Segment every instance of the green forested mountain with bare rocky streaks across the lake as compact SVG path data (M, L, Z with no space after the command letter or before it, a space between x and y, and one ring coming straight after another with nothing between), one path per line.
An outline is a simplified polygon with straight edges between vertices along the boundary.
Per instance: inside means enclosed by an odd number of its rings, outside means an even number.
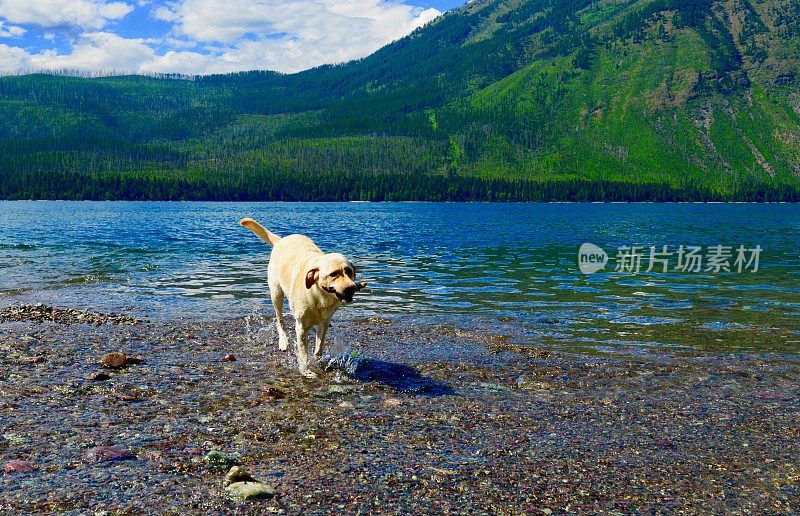
M284 75L0 78L0 198L800 200L800 2L473 1Z

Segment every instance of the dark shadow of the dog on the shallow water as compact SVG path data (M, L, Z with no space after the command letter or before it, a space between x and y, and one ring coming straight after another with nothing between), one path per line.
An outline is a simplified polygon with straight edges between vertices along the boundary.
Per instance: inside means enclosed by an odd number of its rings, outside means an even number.
M338 369L358 382L377 383L407 394L431 397L455 394L451 386L426 378L418 369L406 364L341 355L329 360L326 369Z

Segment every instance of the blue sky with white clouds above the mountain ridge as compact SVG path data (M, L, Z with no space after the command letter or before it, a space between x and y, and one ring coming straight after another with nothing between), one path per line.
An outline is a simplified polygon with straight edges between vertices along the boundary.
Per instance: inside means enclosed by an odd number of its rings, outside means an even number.
M0 73L291 73L369 55L463 3L0 0Z

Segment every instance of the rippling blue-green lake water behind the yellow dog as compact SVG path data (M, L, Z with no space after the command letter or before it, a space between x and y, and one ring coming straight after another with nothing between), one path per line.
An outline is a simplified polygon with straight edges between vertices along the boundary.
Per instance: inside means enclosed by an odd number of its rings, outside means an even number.
M271 315L270 248L244 216L352 257L370 286L337 318L603 352L800 350L800 207L782 204L0 202L0 305ZM581 273L583 243L604 270ZM699 272L676 270L681 245L701 248ZM718 245L731 272L707 270ZM638 273L614 270L622 246L642 247ZM646 272L650 246L672 253L667 273ZM760 246L758 270L737 272L740 246L746 261Z

